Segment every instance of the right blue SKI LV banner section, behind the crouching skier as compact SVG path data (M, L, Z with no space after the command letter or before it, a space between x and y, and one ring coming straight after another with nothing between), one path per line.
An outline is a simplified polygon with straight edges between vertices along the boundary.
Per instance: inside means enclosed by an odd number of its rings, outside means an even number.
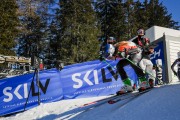
M64 98L84 98L114 94L123 82L116 70L119 60L90 61L69 66L61 72ZM137 79L134 70L125 66L131 79Z

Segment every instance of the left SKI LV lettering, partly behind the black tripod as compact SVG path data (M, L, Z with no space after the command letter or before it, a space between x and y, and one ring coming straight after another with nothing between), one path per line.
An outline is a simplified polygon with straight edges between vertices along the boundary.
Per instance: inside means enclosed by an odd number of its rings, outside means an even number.
M43 84L41 83L41 81L39 81L39 88L41 89L41 91L46 94L48 85L49 85L50 79L47 79L45 82L45 85L43 86ZM35 88L36 88L36 84L34 84L34 82L32 82L31 85L31 93L32 93L32 97L33 96L38 96L38 92L36 92ZM23 93L22 93L22 89L23 89ZM20 93L21 90L21 93ZM13 89L12 87L5 87L3 89L3 94L6 96L3 101L4 102L10 102L13 100L14 97L17 97L18 99L23 99L23 98L27 98L28 97L28 84L20 84L18 85L15 89ZM41 93L40 93L41 94Z

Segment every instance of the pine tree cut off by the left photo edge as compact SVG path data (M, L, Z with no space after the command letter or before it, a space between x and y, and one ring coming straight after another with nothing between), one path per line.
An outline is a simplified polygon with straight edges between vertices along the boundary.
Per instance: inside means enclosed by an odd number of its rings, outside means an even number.
M16 0L0 0L0 54L14 55L19 20Z

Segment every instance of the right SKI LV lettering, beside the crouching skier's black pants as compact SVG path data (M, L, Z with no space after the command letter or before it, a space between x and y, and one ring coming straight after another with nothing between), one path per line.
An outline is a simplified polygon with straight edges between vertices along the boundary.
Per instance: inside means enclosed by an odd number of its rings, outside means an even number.
M111 75L113 76L113 78L117 81L118 80L118 72L117 71L114 72L112 67L107 67L107 69L108 69L108 72L110 72ZM94 80L89 79L89 75L91 74L91 72L93 72ZM101 69L101 76L102 76L103 83L112 82L112 77L111 78L106 78L106 74L107 73L105 73L105 69L102 68ZM94 84L99 84L99 78L98 78L97 70L87 71L84 76L82 76L81 73L75 73L75 74L72 75L72 80L75 82L75 84L73 84L73 88L76 88L76 89L81 88L84 83L87 83L90 86L94 85Z

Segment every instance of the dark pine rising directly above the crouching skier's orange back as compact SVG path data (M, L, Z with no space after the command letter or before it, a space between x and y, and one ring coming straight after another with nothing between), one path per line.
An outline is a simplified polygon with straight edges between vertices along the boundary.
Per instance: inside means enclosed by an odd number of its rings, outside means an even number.
M125 39L125 10L122 0L97 1L96 11L104 36L113 36L118 41Z

